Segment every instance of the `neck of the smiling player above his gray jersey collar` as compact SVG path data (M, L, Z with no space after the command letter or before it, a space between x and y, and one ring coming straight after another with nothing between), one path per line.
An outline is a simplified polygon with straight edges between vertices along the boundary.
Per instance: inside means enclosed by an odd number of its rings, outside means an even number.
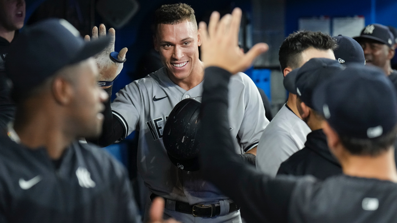
M168 77L170 77L173 83L184 90L190 90L200 84L204 79L204 63L198 60L198 62L194 65L189 77L185 79L175 79L172 77L172 75L168 75Z

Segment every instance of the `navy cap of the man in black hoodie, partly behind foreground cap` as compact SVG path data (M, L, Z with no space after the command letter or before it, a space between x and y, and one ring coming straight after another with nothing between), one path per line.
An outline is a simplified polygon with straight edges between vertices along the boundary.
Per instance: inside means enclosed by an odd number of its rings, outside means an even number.
M288 80L288 82L294 81L294 85L288 86L290 92L297 94L304 104L310 108L313 108L312 94L314 88L342 69L343 66L336 60L327 58L312 58L301 68L294 69L288 73L285 78L292 74Z

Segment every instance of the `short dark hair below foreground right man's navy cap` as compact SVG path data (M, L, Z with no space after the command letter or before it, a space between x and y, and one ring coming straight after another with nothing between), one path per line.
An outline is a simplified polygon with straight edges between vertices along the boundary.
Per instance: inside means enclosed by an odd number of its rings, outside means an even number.
M394 145L397 138L397 126L389 133L377 138L352 138L339 135L342 144L353 155L378 156Z

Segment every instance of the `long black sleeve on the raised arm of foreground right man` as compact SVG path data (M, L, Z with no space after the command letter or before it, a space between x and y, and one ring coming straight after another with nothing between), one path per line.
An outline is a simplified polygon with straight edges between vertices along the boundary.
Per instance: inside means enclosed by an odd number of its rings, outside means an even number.
M205 70L200 129L204 177L241 205L247 221L286 222L295 182L271 180L244 164L234 152L227 115L230 76L217 67Z

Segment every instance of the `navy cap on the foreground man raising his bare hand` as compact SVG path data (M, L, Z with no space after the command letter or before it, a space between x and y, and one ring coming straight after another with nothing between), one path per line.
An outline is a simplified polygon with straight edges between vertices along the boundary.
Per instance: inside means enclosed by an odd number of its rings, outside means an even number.
M339 135L377 138L397 124L396 90L378 67L349 66L320 84L314 109Z

